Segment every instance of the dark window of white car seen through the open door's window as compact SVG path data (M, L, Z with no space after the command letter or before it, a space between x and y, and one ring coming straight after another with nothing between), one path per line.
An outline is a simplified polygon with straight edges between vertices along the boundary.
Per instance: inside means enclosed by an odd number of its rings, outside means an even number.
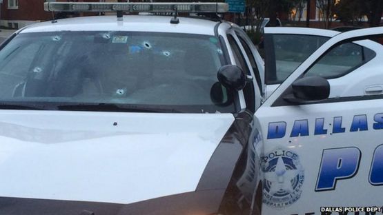
M337 45L311 67L306 76L337 78L375 57L375 52L355 43Z

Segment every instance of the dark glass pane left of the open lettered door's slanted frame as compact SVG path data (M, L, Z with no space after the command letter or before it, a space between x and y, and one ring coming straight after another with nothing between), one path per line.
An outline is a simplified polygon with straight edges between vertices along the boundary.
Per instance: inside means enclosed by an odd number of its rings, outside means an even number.
M267 35L266 84L282 83L328 39L328 37L300 34Z

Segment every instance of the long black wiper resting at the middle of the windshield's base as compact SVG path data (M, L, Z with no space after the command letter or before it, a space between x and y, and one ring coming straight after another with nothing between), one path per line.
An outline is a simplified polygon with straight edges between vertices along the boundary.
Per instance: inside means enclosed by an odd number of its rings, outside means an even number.
M110 111L110 112L144 112L144 113L180 113L179 110L142 105L126 105L112 103L79 103L73 105L58 105L58 110L79 111Z

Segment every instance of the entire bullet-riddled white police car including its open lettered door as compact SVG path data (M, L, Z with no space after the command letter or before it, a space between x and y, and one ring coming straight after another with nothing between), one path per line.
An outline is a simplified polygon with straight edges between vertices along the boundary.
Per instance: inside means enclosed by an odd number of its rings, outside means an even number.
M46 3L119 18L39 23L1 45L0 214L320 214L321 206L380 205L382 95L330 94L349 76L353 85L382 85L362 73L379 53L333 79L307 71L383 29L330 39L261 105L263 61L236 25L121 17L226 7ZM375 200L357 196L365 192Z

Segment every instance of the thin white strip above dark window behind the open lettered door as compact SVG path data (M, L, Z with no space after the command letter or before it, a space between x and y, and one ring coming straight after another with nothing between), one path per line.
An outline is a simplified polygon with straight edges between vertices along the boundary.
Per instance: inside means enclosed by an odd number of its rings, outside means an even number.
M322 37L334 37L340 34L335 30L326 30L320 28L302 28L302 27L265 27L265 34L306 34L317 35Z

